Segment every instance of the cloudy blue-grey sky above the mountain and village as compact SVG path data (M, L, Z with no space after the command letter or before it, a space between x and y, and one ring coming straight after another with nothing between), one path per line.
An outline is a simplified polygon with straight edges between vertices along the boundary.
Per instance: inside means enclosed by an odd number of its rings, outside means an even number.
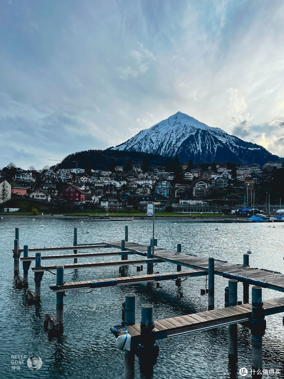
M284 157L281 0L1 0L0 167L178 111Z

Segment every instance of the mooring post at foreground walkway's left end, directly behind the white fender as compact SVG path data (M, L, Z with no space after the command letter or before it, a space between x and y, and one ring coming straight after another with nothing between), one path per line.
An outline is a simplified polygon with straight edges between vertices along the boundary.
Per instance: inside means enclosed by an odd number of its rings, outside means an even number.
M125 329L135 324L136 294L125 294ZM124 379L135 378L135 353L133 346L124 354Z

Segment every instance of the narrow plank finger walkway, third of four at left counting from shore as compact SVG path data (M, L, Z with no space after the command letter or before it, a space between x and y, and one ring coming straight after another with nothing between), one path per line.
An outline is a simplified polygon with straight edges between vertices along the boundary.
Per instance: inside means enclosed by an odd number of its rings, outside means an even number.
M77 257L78 254L74 254ZM158 263L161 262L158 258L150 259L129 259L120 261L106 261L106 262L86 262L86 263L66 263L64 264L64 269L76 269L76 268L92 268L92 267L106 267L106 266L131 266L131 265L144 265L145 263ZM56 270L56 265L45 265L45 266L31 266L33 271L47 271Z

